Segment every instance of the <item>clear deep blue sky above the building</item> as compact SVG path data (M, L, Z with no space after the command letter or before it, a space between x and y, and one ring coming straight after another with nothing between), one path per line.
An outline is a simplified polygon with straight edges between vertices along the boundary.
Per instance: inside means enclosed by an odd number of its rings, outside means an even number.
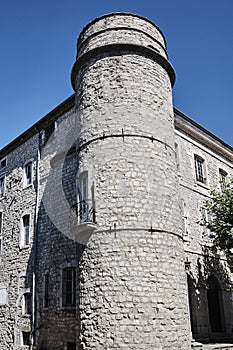
M120 11L160 27L175 107L233 146L233 0L0 0L0 148L73 93L80 31Z

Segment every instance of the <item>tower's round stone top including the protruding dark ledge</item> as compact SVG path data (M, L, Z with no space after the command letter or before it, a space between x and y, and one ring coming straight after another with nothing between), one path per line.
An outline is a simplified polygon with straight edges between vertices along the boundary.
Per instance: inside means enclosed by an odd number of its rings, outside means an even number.
M146 18L130 13L112 13L90 22L79 36L76 62L71 73L74 90L78 71L89 60L128 53L156 60L168 72L173 86L175 72L168 61L161 30Z

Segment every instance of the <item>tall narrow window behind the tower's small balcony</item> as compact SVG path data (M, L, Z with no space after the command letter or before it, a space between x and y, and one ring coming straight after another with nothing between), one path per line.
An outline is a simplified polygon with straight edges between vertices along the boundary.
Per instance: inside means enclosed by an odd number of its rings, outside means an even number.
M88 175L85 171L79 177L79 218L88 221Z

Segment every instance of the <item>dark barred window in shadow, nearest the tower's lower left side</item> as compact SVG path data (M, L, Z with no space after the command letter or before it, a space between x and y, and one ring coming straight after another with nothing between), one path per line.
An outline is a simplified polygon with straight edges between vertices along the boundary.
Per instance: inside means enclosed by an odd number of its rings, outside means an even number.
M62 306L75 305L76 276L74 267L62 271Z

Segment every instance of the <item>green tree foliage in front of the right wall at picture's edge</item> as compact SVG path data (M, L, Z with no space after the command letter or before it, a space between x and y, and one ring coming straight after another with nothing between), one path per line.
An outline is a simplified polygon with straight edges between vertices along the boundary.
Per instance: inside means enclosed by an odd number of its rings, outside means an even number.
M211 231L213 249L229 256L233 253L233 179L222 187L221 192L211 191L211 198L205 202L208 221L203 219L202 224Z

